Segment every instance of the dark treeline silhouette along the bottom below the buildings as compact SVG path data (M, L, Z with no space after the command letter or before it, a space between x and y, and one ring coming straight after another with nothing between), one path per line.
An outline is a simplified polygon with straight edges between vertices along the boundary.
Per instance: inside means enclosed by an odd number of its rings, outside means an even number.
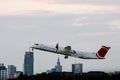
M120 80L120 74L109 75L104 72L88 72L82 74L74 74L72 72L59 72L59 73L41 73L36 75L23 75L16 79L8 80Z

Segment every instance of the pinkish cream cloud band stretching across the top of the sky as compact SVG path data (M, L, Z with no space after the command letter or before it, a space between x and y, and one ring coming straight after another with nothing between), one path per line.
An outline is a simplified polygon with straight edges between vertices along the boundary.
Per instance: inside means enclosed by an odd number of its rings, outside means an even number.
M47 3L48 2L48 3ZM54 12L56 14L108 14L120 13L119 5L96 5L96 4L60 4L49 1L24 1L7 0L0 1L0 15L36 15L39 11Z

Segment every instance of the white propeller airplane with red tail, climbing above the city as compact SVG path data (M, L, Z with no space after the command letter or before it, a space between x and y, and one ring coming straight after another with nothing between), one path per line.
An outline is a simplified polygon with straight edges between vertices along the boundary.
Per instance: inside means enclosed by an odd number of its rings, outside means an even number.
M59 44L57 43L56 46L48 46L44 44L34 44L30 46L32 50L42 50L57 54L65 55L65 59L68 58L68 56L76 57L76 58L82 58L82 59L105 59L105 55L107 54L108 50L111 47L102 46L97 52L83 52L78 50L71 49L71 46L66 47L59 47Z

